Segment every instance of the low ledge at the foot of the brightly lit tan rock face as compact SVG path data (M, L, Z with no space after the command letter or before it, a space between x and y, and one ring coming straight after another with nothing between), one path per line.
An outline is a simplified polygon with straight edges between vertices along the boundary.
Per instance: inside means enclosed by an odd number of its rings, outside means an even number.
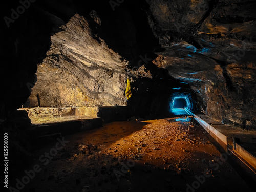
M69 135L102 126L102 123L127 120L125 106L20 108L32 124L26 127L33 142L51 140L56 135ZM32 143L33 143L32 142Z

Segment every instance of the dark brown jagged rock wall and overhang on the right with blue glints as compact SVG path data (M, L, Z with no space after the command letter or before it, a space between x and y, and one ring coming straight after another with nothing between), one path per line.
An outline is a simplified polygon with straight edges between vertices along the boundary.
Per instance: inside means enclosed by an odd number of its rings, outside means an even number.
M162 48L154 63L188 83L205 113L256 127L256 2L147 1Z

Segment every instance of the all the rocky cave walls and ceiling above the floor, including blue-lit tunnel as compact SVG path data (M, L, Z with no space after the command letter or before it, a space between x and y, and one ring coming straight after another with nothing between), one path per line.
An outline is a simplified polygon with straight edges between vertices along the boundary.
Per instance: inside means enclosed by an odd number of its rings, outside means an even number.
M248 0L5 2L0 123L20 158L13 172L33 161L33 142L56 134L36 126L66 126L71 116L104 124L197 114L230 133L255 131L255 8Z

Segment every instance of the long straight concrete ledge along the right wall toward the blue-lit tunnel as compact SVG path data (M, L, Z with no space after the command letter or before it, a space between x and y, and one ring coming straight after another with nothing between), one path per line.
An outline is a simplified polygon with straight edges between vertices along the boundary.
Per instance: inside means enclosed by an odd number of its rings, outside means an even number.
M249 175L251 175L255 180L256 150L254 147L255 143L252 143L251 141L254 142L256 131L248 131L239 127L227 126L218 121L212 120L209 116L203 114L193 114L193 116L204 130L207 131L207 133L209 133L209 135L214 138L226 152L231 151L235 156L237 156L240 160L239 164L244 164L244 167L247 167L245 169L249 172ZM239 138L240 141L247 141L248 143L235 143L233 142L233 138ZM245 149L246 145L252 146L251 151Z

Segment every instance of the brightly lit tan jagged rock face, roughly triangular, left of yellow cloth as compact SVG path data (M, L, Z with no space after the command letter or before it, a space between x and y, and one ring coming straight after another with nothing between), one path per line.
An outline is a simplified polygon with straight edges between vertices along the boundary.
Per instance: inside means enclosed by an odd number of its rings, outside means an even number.
M51 37L26 103L34 106L125 106L126 61L76 14Z

